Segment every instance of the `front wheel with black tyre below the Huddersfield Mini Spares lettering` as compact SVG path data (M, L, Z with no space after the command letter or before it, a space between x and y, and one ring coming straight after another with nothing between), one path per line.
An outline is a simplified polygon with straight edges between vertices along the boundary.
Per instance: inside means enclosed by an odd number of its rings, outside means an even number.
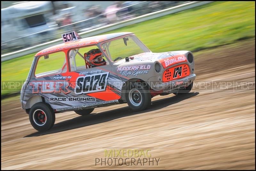
M142 111L151 104L151 94L145 82L132 82L125 92L125 99L133 111Z

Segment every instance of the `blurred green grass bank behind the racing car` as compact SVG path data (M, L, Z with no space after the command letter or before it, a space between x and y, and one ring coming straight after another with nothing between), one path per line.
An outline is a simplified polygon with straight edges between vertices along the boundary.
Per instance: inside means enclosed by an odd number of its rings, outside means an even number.
M214 2L107 33L115 32L135 33L153 52L195 52L255 37L255 2ZM14 92L3 91L3 81L26 80L34 55L1 63L1 95ZM46 67L50 70L57 62Z

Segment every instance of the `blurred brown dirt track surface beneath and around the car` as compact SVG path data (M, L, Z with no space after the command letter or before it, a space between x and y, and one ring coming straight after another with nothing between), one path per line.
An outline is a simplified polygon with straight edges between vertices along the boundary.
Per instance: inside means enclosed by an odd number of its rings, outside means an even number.
M59 113L44 133L30 125L19 100L2 103L1 168L255 169L255 40L200 52L195 62L187 95L156 96L142 112L121 104L85 117ZM160 160L95 166L111 148L150 148Z

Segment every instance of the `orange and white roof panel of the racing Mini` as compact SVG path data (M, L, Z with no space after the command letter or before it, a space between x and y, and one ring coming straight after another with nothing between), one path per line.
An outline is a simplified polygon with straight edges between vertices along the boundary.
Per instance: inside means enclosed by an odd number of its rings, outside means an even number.
M42 51L39 51L36 53L36 56L41 56L44 54L52 53L52 52L57 52L57 51L62 51L65 49L71 49L71 48L79 48L83 47L86 45L92 45L96 43L100 43L118 36L123 36L123 35L129 35L133 34L131 32L121 32L121 33L111 33L111 34L106 34L106 35L97 35L97 36L92 36L92 37L86 37L83 39L79 39L76 41L71 41L71 42L66 42L66 43L61 43L55 46L51 46L49 48L46 48Z

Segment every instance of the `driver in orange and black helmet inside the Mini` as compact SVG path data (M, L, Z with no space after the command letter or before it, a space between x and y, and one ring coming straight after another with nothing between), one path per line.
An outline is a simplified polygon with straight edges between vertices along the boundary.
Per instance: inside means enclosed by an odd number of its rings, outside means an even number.
M90 67L106 65L107 62L102 57L103 55L100 49L92 49L84 53L84 58Z

